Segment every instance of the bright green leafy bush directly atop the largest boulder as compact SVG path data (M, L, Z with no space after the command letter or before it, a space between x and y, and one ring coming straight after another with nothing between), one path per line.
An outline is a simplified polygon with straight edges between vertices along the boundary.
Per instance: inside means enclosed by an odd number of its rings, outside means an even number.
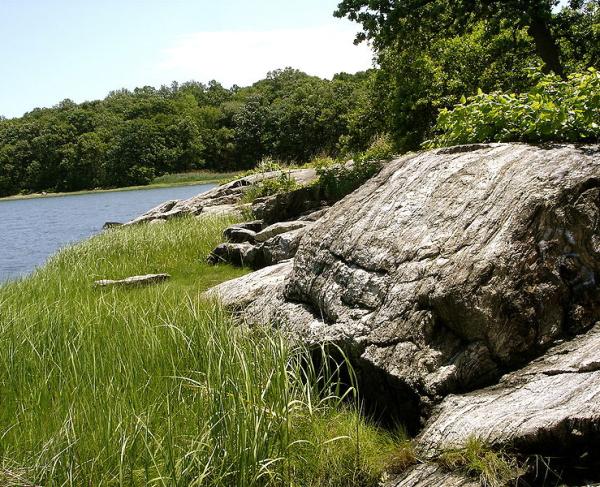
M562 80L539 78L527 93L485 94L442 110L426 148L476 142L594 142L600 140L600 73L590 68Z

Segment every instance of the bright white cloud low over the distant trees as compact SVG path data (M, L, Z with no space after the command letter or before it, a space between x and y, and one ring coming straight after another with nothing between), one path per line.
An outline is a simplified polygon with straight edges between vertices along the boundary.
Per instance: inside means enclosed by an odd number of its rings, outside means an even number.
M371 67L372 51L353 44L355 32L341 24L271 31L197 32L163 50L158 66L170 79L216 79L251 84L274 69L291 66L331 78Z

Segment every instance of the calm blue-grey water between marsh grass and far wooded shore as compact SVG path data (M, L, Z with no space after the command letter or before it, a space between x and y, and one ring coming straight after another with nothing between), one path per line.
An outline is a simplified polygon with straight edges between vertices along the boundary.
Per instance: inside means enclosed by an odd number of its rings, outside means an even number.
M170 199L213 184L0 201L0 282L31 272L61 247L88 238L107 221L125 222Z

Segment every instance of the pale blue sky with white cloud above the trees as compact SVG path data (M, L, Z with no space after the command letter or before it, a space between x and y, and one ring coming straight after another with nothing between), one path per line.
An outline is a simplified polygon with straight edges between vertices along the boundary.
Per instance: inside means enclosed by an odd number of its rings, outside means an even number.
M65 98L212 79L245 86L291 66L331 77L372 64L339 0L0 0L0 115Z

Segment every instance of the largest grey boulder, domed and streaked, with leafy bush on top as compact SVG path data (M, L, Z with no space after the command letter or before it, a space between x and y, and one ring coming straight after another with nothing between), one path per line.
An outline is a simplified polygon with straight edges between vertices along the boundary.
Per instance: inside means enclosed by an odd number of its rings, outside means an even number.
M416 424L600 318L599 204L595 146L408 155L307 231L268 299L240 296L244 318L341 345L363 396Z

